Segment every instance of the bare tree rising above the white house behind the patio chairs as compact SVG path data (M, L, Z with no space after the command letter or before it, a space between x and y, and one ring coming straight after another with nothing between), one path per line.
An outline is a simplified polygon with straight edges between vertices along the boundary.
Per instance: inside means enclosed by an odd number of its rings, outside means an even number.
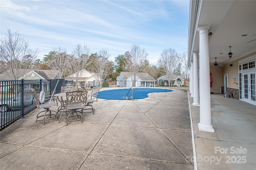
M82 76L83 69L87 68L88 64L88 56L90 53L90 49L87 45L77 44L72 55L70 56L68 66L70 74L73 74L75 77L74 79L78 81L78 79Z

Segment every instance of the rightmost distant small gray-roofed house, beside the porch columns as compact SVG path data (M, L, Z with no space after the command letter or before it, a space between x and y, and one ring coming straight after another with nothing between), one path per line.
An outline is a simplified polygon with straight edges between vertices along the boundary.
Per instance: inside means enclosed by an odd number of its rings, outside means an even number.
M168 78L167 76L161 76L157 79L157 84L160 86L169 86ZM180 76L177 76L175 74L172 74L172 80L171 80L171 86L183 86L184 85L184 79Z

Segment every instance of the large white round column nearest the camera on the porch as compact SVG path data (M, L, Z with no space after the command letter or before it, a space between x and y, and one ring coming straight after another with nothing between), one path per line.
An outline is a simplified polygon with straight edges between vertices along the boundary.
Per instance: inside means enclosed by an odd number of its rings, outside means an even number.
M214 132L211 122L210 59L208 31L210 25L198 26L199 31L199 87L200 87L200 131Z

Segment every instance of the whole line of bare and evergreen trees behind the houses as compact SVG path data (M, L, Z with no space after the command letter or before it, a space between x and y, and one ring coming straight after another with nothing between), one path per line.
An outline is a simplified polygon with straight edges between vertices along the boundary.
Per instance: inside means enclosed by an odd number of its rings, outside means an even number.
M156 64L150 64L148 53L139 44L132 44L130 50L118 55L114 61L107 49L91 53L86 44L76 44L74 50L69 52L65 48L54 47L45 57L38 59L38 49L32 51L26 41L18 32L12 33L7 29L6 36L0 44L0 73L8 72L11 80L17 80L20 69L57 70L58 78L75 75L78 80L82 74L80 70L96 73L102 80L116 80L120 72L131 72L132 82L136 82L136 74L146 72L154 79L166 75L169 82L173 74L184 79L189 78L186 67L187 53L178 54L175 49L163 49ZM170 84L169 84L170 85Z

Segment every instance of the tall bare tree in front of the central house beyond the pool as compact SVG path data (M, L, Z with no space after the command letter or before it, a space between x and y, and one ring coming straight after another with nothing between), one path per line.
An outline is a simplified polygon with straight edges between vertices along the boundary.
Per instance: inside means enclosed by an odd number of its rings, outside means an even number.
M130 51L125 53L126 70L132 75L132 86L136 86L137 73L142 72L143 64L147 60L148 53L139 44L132 44Z

